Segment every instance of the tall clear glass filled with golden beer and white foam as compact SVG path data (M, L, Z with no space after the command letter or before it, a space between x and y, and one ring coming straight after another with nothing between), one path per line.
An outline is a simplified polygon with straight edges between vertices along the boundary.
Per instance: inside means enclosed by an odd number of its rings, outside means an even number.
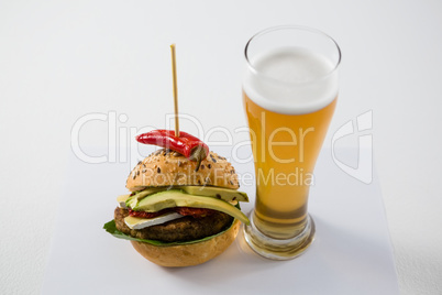
M265 258L294 259L314 239L309 188L336 106L341 51L316 29L276 26L247 42L245 61L256 201L244 237Z

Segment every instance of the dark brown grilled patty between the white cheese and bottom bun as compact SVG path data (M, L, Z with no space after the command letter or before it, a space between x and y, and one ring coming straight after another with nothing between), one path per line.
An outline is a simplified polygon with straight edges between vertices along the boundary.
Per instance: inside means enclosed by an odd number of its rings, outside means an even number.
M144 240L157 240L163 242L191 241L205 237L217 234L228 229L233 217L224 212L216 211L212 215L194 218L186 216L162 225L147 227L144 229L130 229L124 223L124 218L129 216L129 210L120 207L115 208L114 220L117 229L134 238Z

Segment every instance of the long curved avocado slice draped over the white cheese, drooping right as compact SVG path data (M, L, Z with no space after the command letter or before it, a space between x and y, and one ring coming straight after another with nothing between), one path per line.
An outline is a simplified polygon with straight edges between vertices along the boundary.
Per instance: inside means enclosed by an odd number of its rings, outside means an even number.
M240 221L250 225L248 218L241 210L224 200L189 195L178 189L170 189L151 195L148 198L144 198L139 201L136 207L133 209L143 210L146 212L156 212L173 207L213 209L233 216Z

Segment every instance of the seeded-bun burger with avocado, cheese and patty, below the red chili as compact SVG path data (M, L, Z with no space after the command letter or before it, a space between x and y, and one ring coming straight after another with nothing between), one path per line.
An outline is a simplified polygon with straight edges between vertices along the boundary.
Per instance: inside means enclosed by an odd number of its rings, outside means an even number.
M199 163L158 150L130 173L128 195L119 196L114 219L104 229L130 240L145 259L162 266L190 266L221 254L241 222L239 178L225 157L210 152Z

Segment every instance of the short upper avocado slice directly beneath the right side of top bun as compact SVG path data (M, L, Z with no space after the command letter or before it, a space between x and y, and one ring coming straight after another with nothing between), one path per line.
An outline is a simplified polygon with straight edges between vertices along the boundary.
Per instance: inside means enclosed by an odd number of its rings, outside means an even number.
M237 200L248 201L247 194L234 189L216 186L181 186L179 187L187 194L205 197L213 197L225 201Z

